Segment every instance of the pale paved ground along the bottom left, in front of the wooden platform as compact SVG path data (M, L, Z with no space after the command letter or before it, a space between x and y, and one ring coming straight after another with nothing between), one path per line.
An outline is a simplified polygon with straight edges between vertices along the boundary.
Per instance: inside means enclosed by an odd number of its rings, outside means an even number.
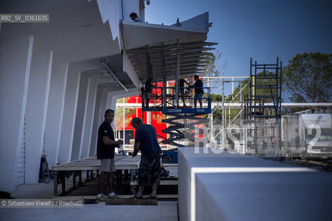
M60 186L60 185L59 185ZM53 180L49 184L24 184L12 193L17 199L50 199L53 197ZM158 201L157 206L122 206L84 204L82 208L0 208L0 220L178 220L176 201Z

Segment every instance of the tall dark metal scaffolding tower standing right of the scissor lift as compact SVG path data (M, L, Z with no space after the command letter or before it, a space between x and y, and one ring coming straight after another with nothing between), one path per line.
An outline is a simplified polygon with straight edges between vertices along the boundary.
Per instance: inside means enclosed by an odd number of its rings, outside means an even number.
M246 99L248 153L282 157L281 104L282 61L277 57L275 64L257 64L250 58L250 96Z

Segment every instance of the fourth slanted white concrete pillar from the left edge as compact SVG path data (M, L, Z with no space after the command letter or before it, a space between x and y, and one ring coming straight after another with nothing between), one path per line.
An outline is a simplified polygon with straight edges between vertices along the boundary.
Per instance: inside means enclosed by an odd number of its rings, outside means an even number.
M78 89L80 84L80 65L69 64L66 79L66 94L64 98L64 113L62 117L58 162L71 160L75 114L77 108Z

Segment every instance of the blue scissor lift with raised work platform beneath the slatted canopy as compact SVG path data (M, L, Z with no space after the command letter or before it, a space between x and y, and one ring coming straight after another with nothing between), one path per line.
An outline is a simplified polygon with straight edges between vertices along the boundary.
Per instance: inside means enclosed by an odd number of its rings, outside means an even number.
M169 138L163 140L164 144L179 147L194 146L194 142L200 141L204 133L203 123L209 122L209 119L203 118L202 115L211 113L210 88L203 88L205 93L202 98L202 108L198 101L196 108L194 107L194 88L183 89L187 90L187 93L176 96L174 87L153 88L148 108L144 106L145 99L142 99L143 111L161 111L169 116L162 121L169 124L169 127L163 130L163 133L169 134ZM186 106L183 104L183 99ZM179 143L180 140L182 143Z

